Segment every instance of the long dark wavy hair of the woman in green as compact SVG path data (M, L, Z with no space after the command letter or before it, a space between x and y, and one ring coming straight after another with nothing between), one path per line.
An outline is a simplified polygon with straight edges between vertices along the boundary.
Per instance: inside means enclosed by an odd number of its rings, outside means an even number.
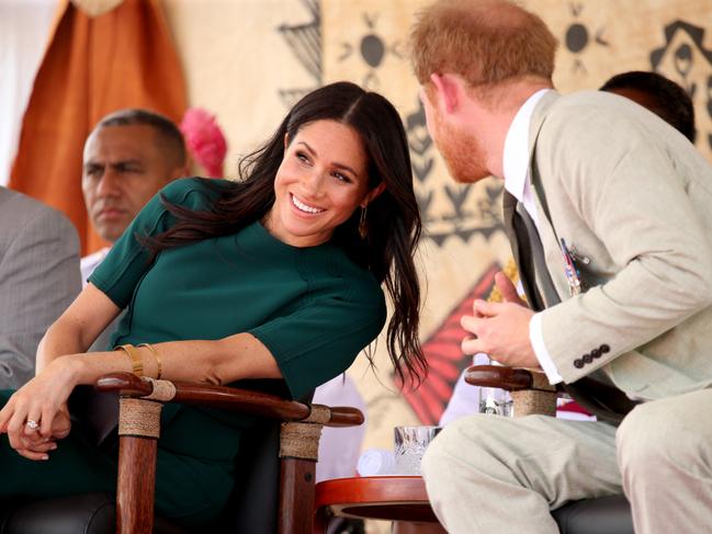
M349 82L331 83L304 96L290 111L271 139L239 163L239 181L224 190L211 211L192 211L167 202L178 223L143 242L158 253L192 241L229 235L262 219L274 204L274 177L284 157L285 134L330 120L359 133L369 156L369 189L384 182L385 191L369 204L369 234L358 231L360 211L338 228L331 241L384 283L393 302L387 346L402 383L427 374L418 340L420 287L414 254L420 238L420 213L412 190L408 143L395 107L383 96Z

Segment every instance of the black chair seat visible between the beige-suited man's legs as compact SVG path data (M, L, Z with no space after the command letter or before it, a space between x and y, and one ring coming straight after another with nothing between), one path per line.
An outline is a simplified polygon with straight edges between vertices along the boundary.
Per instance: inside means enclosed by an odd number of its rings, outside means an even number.
M633 534L631 507L623 496L569 502L552 515L562 534Z

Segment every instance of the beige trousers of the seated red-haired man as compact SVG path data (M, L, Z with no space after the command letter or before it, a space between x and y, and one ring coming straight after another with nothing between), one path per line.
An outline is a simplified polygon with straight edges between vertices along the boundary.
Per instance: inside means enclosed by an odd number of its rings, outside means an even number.
M712 389L646 402L602 422L472 416L422 461L452 534L557 534L567 501L625 492L636 534L712 532Z

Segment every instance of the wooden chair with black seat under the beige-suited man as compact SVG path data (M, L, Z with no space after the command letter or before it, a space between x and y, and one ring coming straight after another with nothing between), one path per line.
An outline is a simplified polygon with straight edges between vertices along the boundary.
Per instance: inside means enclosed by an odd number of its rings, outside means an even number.
M473 365L465 372L465 382L508 390L512 397L513 417L556 416L557 390L543 373ZM631 508L624 496L569 502L554 510L552 515L562 534L633 534Z

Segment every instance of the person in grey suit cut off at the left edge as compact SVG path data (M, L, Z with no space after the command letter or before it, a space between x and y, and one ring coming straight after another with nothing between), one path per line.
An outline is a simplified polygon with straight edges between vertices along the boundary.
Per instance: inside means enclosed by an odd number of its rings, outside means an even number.
M39 340L80 291L72 224L0 186L0 389L32 378Z

